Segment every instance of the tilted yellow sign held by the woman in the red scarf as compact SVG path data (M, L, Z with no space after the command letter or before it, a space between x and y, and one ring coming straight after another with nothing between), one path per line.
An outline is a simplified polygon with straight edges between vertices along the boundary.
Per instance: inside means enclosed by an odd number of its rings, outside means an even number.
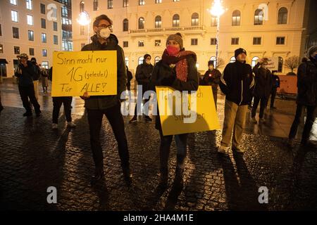
M163 135L220 129L211 86L199 86L195 94L156 86Z

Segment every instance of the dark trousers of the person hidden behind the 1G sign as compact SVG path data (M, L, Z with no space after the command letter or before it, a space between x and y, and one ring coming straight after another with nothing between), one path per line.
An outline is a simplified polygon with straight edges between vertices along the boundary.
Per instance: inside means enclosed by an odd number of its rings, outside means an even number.
M72 105L73 97L53 97L53 123L58 123L59 110L61 109L61 105L64 105L64 111L66 115L67 122L72 121L71 114L71 105Z

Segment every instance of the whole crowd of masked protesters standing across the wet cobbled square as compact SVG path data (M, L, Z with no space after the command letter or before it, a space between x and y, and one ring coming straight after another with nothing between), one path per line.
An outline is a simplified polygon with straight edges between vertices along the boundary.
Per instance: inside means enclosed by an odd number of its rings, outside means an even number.
M106 15L99 15L93 23L94 35L92 43L82 48L82 51L104 51L114 50L117 53L117 90L118 93L113 96L89 96L86 92L82 99L85 100L87 110L87 120L89 124L90 144L92 148L92 158L94 159L95 171L92 177L92 184L104 177L104 156L100 142L101 122L106 115L111 124L113 134L118 144L118 153L120 163L123 169L123 176L128 184L131 184L132 173L130 172L128 141L125 135L125 125L123 115L120 113L120 95L126 89L130 90L130 81L132 73L125 65L123 49L118 45L116 35L112 33L112 20ZM162 58L155 65L151 65L151 56L144 55L143 63L137 66L136 79L137 84L142 85L142 96L145 91L155 91L155 86L170 86L178 91L197 91L199 85L211 86L213 101L217 106L218 86L225 94L224 121L222 130L222 139L218 147L218 153L224 154L232 142L232 150L237 153L244 153L245 149L240 145L242 134L247 120L248 105L251 104L251 122L258 123L256 120L256 110L260 104L259 123L264 123L264 110L268 105L268 99L271 96L271 109L275 109L274 101L280 79L276 75L277 71L268 70L268 59L262 58L251 68L246 63L247 51L245 49L235 50L235 62L228 63L221 74L215 68L215 62L208 62L208 70L199 84L197 72L197 56L192 51L185 50L182 35L180 33L171 34L166 39L166 49L162 53ZM19 56L20 64L15 71L18 77L18 89L26 112L23 116L32 116L32 108L35 109L37 117L41 115L40 105L38 103L38 81L42 77L43 92L47 92L48 79L52 79L53 68L47 72L44 68L37 65L35 58L28 60L28 56L23 53ZM128 77L127 77L128 75ZM128 78L128 82L127 82ZM312 46L308 51L308 57L299 65L297 72L297 110L294 117L292 128L290 129L288 144L292 146L294 137L297 134L297 128L302 117L304 108L307 111L307 117L302 134L302 144L309 144L309 133L316 117L317 105L317 46ZM63 104L68 127L74 128L76 125L72 122L71 103L72 97L54 97L54 110L52 114L52 129L58 128L58 116L61 105ZM143 98L137 98L137 101L143 101ZM149 98L144 99L147 103ZM139 110L135 106L135 114L130 123L137 122ZM3 110L0 96L0 113ZM159 110L157 109L159 112ZM145 120L151 121L151 117L144 113ZM155 127L159 130L161 143L159 146L160 155L160 173L162 186L168 182L168 159L170 156L170 145L175 139L176 169L175 184L182 186L182 176L185 167L187 155L187 136L188 134L164 136L160 117L156 116Z

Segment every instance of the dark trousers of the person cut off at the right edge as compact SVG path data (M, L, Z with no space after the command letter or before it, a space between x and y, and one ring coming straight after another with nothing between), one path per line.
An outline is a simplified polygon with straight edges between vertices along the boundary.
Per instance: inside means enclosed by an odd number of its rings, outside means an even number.
M302 134L302 143L306 143L306 141L309 140L309 134L311 132L311 127L313 127L313 122L315 121L316 105L315 106L305 106L305 105L297 104L294 122L292 124L291 129L290 129L290 134L288 135L288 137L290 139L294 139L294 137L296 136L298 126L301 122L301 117L302 117L304 107L306 107L306 109L307 109L307 117L306 117L306 122L304 125L304 131Z

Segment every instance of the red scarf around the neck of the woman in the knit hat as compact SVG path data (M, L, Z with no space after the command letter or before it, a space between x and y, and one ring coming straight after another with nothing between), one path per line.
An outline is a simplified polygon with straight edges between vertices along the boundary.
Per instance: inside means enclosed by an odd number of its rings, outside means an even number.
M170 56L166 49L163 52L162 61L168 65L176 65L176 77L182 82L187 82L188 63L187 56L193 56L196 62L197 56L193 51L180 51L177 56Z

